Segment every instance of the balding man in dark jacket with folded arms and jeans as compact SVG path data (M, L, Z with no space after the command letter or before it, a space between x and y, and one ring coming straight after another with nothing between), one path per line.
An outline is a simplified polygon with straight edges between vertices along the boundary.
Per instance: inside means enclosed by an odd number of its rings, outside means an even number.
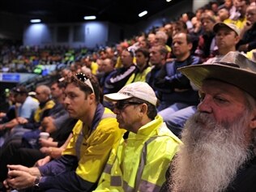
M190 35L181 32L173 36L173 54L176 59L165 63L156 76L155 87L160 99L158 111L164 121L177 110L198 103L198 92L193 90L190 80L177 70L181 66L200 63L200 59L190 53L192 46Z

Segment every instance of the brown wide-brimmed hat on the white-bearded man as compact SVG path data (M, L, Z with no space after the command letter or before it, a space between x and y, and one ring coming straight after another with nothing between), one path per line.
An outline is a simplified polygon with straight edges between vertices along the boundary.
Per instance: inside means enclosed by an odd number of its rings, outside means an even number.
M229 52L220 62L185 66L178 69L196 87L206 79L215 79L241 88L256 98L256 62L238 52Z

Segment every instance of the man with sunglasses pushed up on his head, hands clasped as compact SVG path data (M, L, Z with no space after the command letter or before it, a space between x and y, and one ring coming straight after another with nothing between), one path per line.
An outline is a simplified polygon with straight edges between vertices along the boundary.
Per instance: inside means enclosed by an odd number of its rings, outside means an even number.
M123 131L116 116L100 104L100 88L95 76L77 74L66 85L66 109L79 119L73 137L58 160L39 168L8 165L5 186L42 191L92 191L100 178L109 153Z

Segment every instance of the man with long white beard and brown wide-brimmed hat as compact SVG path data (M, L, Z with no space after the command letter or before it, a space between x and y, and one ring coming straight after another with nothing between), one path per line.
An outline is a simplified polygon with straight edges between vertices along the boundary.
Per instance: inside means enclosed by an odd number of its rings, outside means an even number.
M180 71L199 88L201 102L161 191L256 191L256 63L230 52Z

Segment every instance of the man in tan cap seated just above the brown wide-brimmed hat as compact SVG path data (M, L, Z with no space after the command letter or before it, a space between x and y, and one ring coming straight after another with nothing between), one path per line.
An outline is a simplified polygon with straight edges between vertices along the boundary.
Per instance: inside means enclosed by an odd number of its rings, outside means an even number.
M218 54L206 63L219 62L230 51L236 51L240 30L233 23L215 23L213 27Z

